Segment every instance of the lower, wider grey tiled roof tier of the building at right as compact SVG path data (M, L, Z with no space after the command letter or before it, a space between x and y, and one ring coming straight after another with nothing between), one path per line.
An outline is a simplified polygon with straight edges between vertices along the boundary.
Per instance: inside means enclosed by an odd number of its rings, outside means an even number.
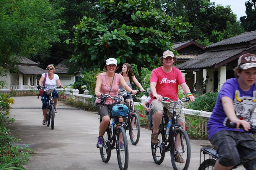
M246 50L246 48L238 48L232 50L223 50L223 51L212 51L205 52L201 55L198 55L196 58L190 59L185 63L179 64L178 69L203 69L213 67L215 64L218 64L226 59L235 56Z

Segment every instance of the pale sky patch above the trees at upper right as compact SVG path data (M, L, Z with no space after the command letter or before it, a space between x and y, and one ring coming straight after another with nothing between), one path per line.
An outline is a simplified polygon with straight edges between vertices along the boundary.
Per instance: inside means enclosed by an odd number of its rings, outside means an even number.
M237 20L240 19L241 16L246 16L245 14L245 2L248 0L210 0L210 2L215 2L216 5L230 5L231 10L234 14L237 15Z

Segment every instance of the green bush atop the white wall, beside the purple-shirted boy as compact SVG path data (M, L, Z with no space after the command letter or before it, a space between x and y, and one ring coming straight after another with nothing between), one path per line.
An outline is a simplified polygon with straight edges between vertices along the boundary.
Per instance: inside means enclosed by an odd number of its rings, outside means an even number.
M212 112L214 109L218 92L205 93L204 96L196 97L194 102L188 104L188 109Z

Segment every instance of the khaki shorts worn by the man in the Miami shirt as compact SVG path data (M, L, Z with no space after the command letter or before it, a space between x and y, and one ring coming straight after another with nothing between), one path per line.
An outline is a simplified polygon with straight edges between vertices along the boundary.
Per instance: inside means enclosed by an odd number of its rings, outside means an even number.
M169 119L171 119L173 116L173 114L172 114L173 103L170 103L168 101L153 100L151 102L150 111L152 114L155 114L158 111L163 111L164 107L167 109L167 115L168 115ZM180 108L179 104L176 104L175 110L176 110L177 122L186 123L183 110Z

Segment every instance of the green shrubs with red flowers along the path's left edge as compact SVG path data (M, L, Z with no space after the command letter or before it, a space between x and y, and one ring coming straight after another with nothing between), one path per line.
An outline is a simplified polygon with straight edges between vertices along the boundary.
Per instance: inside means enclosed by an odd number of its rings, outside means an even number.
M24 170L23 165L28 164L29 149L18 146L20 140L13 137L10 129L7 129L6 123L13 123L14 119L9 118L11 104L13 99L7 95L0 94L0 170L20 169Z

